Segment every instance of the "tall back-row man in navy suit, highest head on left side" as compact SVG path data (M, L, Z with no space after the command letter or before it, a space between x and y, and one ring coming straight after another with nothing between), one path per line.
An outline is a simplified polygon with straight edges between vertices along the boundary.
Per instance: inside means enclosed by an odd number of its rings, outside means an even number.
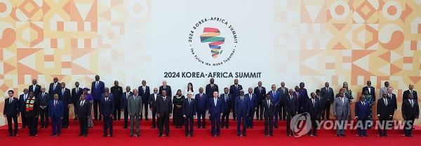
M98 108L101 101L101 95L105 92L105 84L100 81L100 75L95 75L95 81L92 82L91 94L93 96L93 116L95 117L94 121L98 121ZM100 115L100 120L102 119Z

